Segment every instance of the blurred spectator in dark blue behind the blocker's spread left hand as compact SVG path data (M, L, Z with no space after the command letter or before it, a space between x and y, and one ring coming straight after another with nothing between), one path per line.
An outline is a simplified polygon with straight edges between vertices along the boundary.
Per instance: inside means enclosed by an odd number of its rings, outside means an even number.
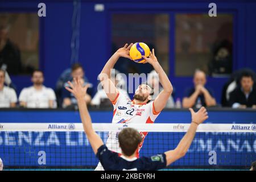
M84 69L82 69L82 66L79 63L73 64L71 68L71 80L67 81L73 81L73 78L80 77L82 81L82 85L90 84L88 81L85 80L84 76ZM68 90L65 89L65 86L68 86L68 83L65 82L63 88L62 88L62 97L63 97L63 104L62 106L65 107L73 107L77 105L76 98L73 96L72 93L68 92ZM85 96L85 102L86 104L90 104L90 101L92 100L92 84L90 84L90 87L87 90L86 96Z

